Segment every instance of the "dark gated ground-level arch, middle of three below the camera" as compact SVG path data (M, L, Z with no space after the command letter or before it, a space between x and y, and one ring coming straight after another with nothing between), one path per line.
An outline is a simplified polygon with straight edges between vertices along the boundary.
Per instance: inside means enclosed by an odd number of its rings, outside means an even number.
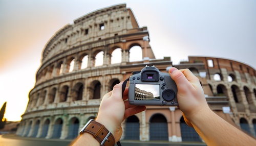
M168 140L167 120L162 114L155 114L150 119L150 140Z

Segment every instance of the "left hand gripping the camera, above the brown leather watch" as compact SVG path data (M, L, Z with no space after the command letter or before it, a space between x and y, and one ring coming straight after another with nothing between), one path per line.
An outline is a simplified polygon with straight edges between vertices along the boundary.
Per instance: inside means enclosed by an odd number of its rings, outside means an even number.
M129 104L128 88L125 88L122 98L122 83L115 85L113 91L103 96L96 118L96 121L103 124L114 135L116 142L122 135L122 121L146 109L145 106Z

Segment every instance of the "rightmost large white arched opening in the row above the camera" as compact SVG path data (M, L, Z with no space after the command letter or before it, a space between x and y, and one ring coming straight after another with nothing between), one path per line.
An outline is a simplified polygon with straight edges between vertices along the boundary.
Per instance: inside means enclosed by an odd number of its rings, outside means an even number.
M131 47L129 52L129 62L142 61L142 48L139 45Z

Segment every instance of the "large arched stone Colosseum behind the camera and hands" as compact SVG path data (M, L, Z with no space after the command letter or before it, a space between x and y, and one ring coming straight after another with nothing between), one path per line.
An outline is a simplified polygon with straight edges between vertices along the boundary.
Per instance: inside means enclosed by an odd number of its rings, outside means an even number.
M161 72L170 66L189 68L200 80L210 108L245 132L256 136L256 71L244 63L189 56L173 65L156 59L146 27L140 28L125 4L84 15L56 32L42 51L36 83L17 135L73 139L97 116L102 95L145 64ZM142 59L130 60L136 49ZM120 58L120 59L118 59ZM178 107L147 106L122 124L121 139L202 141L188 127Z

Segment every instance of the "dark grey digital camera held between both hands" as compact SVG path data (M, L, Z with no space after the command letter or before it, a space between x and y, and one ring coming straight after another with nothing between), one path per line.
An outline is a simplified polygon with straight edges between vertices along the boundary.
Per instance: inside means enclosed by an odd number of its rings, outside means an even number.
M145 66L133 72L129 83L129 104L178 106L177 85L170 75L157 67Z

